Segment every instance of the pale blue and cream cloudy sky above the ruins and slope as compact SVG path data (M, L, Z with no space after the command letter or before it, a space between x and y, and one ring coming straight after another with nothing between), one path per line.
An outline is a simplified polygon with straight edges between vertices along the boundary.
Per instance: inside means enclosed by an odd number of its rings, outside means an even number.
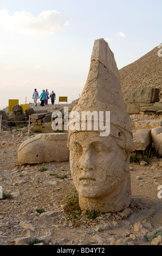
M103 38L118 69L161 43L161 0L1 0L0 109L33 102L36 88L79 97L94 40ZM50 101L49 101L50 103Z

